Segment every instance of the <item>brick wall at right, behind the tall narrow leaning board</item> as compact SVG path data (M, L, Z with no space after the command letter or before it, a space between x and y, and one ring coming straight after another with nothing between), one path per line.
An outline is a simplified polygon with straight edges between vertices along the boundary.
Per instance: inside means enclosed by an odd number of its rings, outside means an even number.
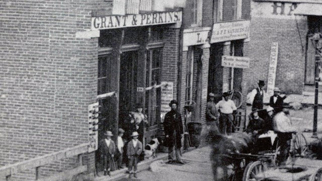
M259 79L267 82L271 43L278 42L275 86L286 92L300 94L304 87L307 21L302 17L295 19L295 16L288 15L288 5L285 5L285 15L275 15L271 12L271 4L253 2L252 5L255 8L247 56L252 59L253 72L250 74L252 79L249 91L257 86ZM270 8L260 9L261 6Z

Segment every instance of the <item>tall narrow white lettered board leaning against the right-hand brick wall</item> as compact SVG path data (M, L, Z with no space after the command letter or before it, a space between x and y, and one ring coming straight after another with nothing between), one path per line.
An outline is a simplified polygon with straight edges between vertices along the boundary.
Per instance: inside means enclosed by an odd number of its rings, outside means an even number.
M267 96L269 97L274 95L277 55L278 55L278 43L273 42L271 46L270 66L269 66L268 79L267 79Z

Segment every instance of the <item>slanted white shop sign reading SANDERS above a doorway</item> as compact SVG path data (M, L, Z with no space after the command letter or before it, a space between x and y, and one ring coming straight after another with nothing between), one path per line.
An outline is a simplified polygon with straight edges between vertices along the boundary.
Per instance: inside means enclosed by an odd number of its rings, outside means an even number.
M214 23L210 43L249 38L250 23L249 20Z

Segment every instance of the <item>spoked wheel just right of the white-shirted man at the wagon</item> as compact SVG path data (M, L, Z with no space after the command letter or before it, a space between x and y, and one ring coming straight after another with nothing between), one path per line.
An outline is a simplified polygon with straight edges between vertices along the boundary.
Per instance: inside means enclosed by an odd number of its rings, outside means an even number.
M302 133L296 133L292 139L293 143L293 153L295 155L305 156L308 150L307 142Z

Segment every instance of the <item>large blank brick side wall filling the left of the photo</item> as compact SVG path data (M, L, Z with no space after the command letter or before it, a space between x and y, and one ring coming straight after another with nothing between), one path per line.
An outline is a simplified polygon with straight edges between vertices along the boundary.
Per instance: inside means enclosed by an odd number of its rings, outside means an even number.
M75 32L90 29L97 5L90 0L0 2L0 165L88 142L98 40L75 38ZM72 167L75 159L70 160L49 167ZM29 173L32 178L34 170Z

